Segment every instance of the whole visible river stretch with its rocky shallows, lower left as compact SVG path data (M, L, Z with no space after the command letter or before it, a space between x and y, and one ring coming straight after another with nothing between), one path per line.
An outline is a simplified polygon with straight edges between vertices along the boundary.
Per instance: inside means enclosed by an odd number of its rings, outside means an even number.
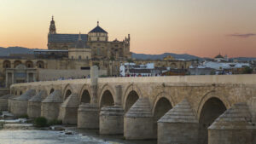
M157 141L127 141L123 135L99 135L99 130L79 130L70 125L37 128L26 118L1 119L0 144L156 144Z

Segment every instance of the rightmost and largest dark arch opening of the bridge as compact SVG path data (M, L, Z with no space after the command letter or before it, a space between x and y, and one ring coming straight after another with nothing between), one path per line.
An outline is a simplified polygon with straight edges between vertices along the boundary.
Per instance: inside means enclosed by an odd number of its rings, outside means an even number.
M200 144L208 141L207 128L214 122L216 118L226 111L227 107L218 97L210 97L203 103L199 116L199 137Z

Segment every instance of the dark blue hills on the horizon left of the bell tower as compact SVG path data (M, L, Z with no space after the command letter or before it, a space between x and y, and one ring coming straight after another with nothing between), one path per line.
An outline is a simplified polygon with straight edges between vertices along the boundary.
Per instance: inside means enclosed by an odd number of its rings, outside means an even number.
M33 54L34 49L27 49L23 47L0 47L0 56L9 56L10 54Z

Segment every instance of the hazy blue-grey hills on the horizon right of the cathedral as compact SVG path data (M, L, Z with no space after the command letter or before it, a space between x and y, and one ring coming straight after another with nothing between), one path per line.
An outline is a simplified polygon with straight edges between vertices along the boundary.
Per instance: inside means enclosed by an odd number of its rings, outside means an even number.
M164 57L167 55L172 55L175 59L184 59L184 60L202 60L200 57L195 56L195 55L188 55L188 54L173 54L173 53L164 53L161 55L146 55L146 54L136 54L132 53L131 57L135 59L140 59L140 60L163 60Z

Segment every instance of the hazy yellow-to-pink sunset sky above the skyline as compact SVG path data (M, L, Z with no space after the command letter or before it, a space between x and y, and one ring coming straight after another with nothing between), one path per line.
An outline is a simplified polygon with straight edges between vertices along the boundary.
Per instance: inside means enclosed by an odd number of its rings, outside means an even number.
M0 47L47 49L51 15L57 33L130 33L136 53L256 57L256 0L0 0Z

